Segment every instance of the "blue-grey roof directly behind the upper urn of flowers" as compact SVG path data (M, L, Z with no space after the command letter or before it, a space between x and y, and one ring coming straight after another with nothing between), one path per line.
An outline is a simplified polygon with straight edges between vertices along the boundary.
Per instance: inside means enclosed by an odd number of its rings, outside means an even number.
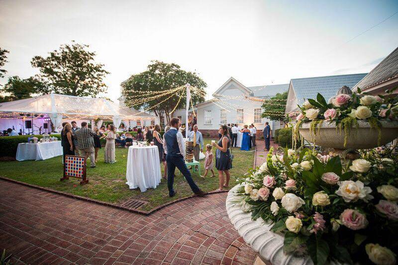
M290 82L296 93L297 103L301 105L307 98L316 98L317 93L321 93L326 101L336 95L342 86L354 87L367 74L351 74L326 77L297 78Z

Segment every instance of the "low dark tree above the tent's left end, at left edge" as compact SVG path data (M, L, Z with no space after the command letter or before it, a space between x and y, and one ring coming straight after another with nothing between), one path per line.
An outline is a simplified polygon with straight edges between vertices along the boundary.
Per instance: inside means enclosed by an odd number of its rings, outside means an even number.
M8 78L8 83L4 88L0 89L1 92L9 93L6 97L7 101L29 98L32 94L45 89L45 85L40 81L30 77L28 79L20 79L17 76Z

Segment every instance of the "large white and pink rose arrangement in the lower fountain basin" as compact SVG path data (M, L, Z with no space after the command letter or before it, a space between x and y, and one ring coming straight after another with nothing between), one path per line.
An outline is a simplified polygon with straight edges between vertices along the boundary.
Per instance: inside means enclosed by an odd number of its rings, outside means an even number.
M239 178L252 218L283 233L284 252L314 264L396 264L398 166L392 149L361 151L349 162L315 150L285 149Z

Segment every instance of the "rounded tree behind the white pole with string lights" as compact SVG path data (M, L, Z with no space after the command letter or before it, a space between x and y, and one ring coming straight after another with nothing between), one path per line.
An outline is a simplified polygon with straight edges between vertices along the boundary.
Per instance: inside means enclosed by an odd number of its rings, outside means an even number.
M121 86L126 106L151 110L159 117L166 114L169 123L174 110L186 107L186 89L175 92L171 89L187 83L199 88L191 93L192 104L204 101L206 83L197 73L184 71L177 64L151 61L145 72L132 75Z

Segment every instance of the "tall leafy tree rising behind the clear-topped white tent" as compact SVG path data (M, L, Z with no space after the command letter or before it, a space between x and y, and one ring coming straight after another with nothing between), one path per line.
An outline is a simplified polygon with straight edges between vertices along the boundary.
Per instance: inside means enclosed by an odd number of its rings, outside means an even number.
M109 73L102 64L94 62L96 53L88 51L88 48L89 45L72 41L72 44L61 45L58 51L50 52L46 58L33 57L31 65L40 71L37 78L46 85L41 93L95 97L105 92L103 79Z

